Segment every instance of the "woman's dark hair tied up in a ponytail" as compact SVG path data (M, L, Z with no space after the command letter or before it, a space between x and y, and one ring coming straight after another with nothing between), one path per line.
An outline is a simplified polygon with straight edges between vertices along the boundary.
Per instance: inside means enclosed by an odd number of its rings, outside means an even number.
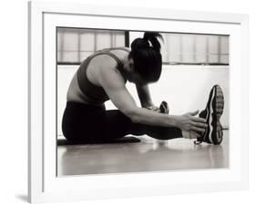
M143 38L137 38L131 43L131 52L128 58L134 62L134 70L147 82L157 82L162 71L161 45L155 32L146 32Z

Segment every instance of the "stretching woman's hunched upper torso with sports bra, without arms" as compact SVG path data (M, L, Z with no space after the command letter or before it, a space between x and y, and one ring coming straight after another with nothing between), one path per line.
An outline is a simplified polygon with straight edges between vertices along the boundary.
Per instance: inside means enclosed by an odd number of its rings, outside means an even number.
M108 94L98 82L99 68L114 59L117 62L117 69L120 70L123 66L122 60L128 53L128 48L118 47L100 50L87 57L73 76L67 91L67 102L102 105L108 101ZM108 68L106 66L106 69Z

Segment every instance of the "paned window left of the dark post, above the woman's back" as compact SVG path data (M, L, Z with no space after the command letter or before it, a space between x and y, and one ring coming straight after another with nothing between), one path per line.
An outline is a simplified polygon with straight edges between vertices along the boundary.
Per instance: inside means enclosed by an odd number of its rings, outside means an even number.
M128 46L125 31L57 28L58 64L79 64L97 50L119 46Z

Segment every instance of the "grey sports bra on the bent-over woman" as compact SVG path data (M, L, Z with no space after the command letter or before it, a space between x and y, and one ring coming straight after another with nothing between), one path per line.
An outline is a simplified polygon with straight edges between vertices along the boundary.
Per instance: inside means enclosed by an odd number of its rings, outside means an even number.
M86 102L89 104L100 105L109 100L108 94L105 92L105 90L100 86L94 85L87 78L87 67L90 61L94 57L100 54L108 54L110 57L112 57L117 61L118 71L122 75L124 74L122 69L124 64L118 58L118 56L110 52L111 50L124 50L129 53L128 49L123 47L103 49L103 50L97 51L97 53L94 53L88 56L87 59L82 63L82 65L77 70L78 87L85 96L84 100L86 100Z

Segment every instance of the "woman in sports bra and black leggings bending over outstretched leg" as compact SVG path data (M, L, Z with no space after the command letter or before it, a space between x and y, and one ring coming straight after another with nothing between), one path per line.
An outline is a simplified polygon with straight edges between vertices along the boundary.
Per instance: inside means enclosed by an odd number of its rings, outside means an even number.
M206 109L183 115L163 114L150 98L148 83L156 83L162 69L158 33L146 32L126 47L100 50L87 57L75 73L67 92L62 130L68 141L97 143L128 134L147 134L158 140L197 139L220 144L223 93L215 85ZM126 88L135 83L141 107ZM111 100L118 110L106 111Z

